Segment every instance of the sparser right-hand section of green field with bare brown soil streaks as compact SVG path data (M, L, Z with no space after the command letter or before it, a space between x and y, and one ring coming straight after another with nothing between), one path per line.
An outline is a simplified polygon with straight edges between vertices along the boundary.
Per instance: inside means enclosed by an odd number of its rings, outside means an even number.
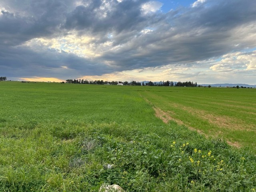
M154 87L142 96L164 120L256 149L256 89Z

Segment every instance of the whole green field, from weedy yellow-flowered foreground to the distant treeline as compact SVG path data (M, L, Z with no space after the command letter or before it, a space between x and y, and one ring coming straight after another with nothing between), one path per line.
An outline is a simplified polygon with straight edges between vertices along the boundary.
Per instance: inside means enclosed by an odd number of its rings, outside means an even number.
M255 96L0 82L0 191L254 191Z

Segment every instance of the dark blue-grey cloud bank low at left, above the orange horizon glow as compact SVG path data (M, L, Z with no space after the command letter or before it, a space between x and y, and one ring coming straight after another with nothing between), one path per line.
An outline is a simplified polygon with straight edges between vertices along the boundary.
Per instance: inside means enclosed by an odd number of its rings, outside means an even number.
M83 76L84 73L99 74L112 70L97 61L86 60L74 54L43 49L35 52L30 48L0 49L1 74L9 77L55 77ZM65 68L64 68L65 67ZM67 67L67 68L66 68Z

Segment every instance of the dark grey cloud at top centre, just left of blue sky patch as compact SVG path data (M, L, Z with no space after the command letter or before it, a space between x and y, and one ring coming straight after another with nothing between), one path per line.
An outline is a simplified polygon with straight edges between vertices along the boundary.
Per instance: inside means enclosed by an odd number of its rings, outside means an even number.
M148 16L142 16L141 5L148 0L124 0L118 3L110 0L110 10L100 9L101 0L94 0L89 6L77 6L68 14L63 25L67 29L77 29L91 32L106 33L124 30L138 30L150 22Z

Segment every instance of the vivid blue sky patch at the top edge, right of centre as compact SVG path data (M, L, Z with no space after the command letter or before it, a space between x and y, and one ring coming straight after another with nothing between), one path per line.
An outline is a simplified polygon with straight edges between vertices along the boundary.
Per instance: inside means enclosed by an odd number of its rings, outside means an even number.
M158 0L159 2L163 3L161 10L165 13L169 12L170 10L175 10L176 8L182 7L189 7L193 4L196 0Z

